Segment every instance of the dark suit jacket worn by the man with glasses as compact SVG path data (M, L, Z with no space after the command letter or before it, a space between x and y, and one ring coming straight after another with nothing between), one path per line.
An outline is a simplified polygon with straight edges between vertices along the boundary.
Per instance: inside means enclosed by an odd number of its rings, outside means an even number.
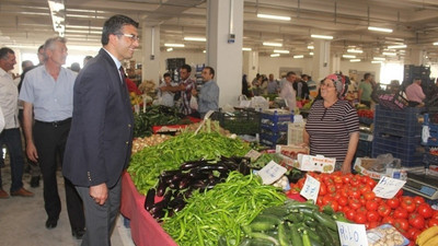
M74 82L73 116L62 174L76 186L113 187L127 167L134 117L126 83L101 49Z

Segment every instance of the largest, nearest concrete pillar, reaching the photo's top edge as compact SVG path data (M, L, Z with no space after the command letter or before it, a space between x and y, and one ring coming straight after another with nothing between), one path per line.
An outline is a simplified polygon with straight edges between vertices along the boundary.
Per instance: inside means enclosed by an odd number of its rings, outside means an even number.
M243 0L207 1L207 65L216 70L219 106L242 92Z

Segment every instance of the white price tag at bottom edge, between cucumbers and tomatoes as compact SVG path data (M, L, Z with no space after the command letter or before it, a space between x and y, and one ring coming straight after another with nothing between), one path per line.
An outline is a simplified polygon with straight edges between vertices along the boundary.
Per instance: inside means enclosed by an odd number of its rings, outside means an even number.
M350 224L336 221L342 246L368 246L365 224Z

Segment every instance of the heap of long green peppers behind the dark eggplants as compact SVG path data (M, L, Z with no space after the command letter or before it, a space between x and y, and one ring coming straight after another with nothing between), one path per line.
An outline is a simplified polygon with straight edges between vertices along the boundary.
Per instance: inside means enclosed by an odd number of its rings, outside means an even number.
M132 155L128 172L140 194L158 183L161 172L177 169L188 161L200 159L219 160L221 155L243 156L250 151L249 144L218 132L183 132L159 145L146 148Z

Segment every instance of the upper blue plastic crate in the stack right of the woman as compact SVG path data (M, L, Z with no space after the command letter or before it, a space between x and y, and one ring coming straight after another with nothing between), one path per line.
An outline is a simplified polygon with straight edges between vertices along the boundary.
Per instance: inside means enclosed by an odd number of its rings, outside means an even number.
M374 133L388 133L397 137L422 136L420 109L407 107L392 110L380 105L376 107Z

